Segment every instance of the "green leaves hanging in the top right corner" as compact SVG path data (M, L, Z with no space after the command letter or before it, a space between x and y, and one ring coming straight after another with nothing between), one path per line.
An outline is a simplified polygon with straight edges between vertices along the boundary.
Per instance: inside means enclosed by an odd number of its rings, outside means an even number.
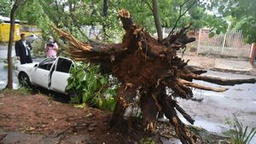
M248 43L256 42L256 1L207 0L203 1L201 6L223 19L221 24L214 25L218 32L222 32L230 24L230 29L241 30Z

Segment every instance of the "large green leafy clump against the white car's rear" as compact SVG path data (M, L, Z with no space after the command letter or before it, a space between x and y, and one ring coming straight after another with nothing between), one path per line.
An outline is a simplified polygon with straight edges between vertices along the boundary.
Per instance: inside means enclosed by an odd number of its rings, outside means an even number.
M113 112L118 85L111 86L99 66L78 63L71 71L66 90L71 95L72 103L86 103Z

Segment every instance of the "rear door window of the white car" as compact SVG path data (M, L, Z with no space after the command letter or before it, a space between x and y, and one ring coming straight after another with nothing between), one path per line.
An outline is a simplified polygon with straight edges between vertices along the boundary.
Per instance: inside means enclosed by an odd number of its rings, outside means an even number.
M59 58L58 63L57 63L57 67L56 67L56 72L69 73L70 67L72 65L73 65L73 63L72 63L71 60Z

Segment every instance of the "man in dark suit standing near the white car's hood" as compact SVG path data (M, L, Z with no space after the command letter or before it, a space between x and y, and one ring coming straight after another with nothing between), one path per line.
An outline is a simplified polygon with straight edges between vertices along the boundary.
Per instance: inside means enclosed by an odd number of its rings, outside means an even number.
M26 35L24 33L20 34L20 40L15 43L15 52L20 64L32 63L32 58L30 54L32 50L31 43L26 41Z

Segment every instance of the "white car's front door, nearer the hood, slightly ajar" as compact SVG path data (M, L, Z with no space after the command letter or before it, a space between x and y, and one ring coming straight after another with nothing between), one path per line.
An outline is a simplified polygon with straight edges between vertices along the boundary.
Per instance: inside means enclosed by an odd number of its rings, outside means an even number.
M49 89L49 73L55 64L55 58L48 58L38 64L32 72L32 83Z

